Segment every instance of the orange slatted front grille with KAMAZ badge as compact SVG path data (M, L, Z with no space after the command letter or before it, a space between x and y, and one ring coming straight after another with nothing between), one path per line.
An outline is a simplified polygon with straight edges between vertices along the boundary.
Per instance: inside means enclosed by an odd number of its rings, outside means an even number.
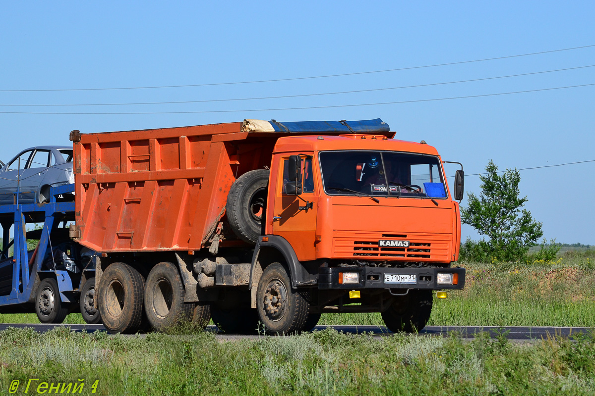
M342 235L341 235L342 234ZM401 258L420 261L450 261L450 235L402 235L376 234L347 236L341 233L334 238L333 252L337 258ZM390 235L390 237L389 237ZM378 246L378 240L395 238L409 240L409 246Z

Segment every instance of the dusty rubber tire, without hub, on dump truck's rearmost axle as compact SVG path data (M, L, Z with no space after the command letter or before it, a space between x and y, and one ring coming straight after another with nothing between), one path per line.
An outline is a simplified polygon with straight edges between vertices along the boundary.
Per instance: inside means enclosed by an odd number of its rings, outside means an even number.
M124 317L121 321L119 318L112 321L110 315L107 315L106 308L104 307L105 293L107 292L106 287L108 282L114 279L114 276L120 276L120 281L124 288L128 289L129 293L126 293L129 299L128 305L124 305L122 315ZM139 330L143 320L143 297L145 294L145 280L140 275L139 271L135 270L130 265L123 262L114 262L108 266L101 277L99 286L99 300L98 307L101 315L102 322L104 322L105 328L111 332L121 334L134 334ZM128 308L126 310L126 308Z

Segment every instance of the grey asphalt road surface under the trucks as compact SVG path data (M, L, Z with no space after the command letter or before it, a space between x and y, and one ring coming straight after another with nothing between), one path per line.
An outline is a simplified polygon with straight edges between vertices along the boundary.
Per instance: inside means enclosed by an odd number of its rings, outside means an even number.
M103 325L48 325L48 324L0 324L0 330L8 327L32 327L37 332L46 332L55 327L70 327L74 331L93 332L96 330L105 330ZM384 326L328 326L337 331L349 334L372 333L377 337L390 336L393 333ZM324 330L327 326L317 326L316 330ZM208 326L207 331L217 331L217 327ZM588 327L495 327L495 326L427 326L419 332L420 335L436 335L448 337L451 332L461 333L463 338L473 338L480 332L488 332L492 338L495 338L502 331L505 332L509 340L539 340L547 337L569 337L578 333L590 334ZM218 337L224 339L234 338L257 338L258 335L236 335L236 334L218 334Z

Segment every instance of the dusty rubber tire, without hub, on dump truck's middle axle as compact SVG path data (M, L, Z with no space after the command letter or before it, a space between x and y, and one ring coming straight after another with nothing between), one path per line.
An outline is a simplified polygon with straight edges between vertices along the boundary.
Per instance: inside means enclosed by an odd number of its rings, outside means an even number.
M165 318L159 318L152 309L156 281L164 279L171 287L172 301L171 308ZM145 282L145 314L151 327L156 331L165 331L176 323L192 318L194 311L193 303L184 303L186 291L182 283L180 273L176 265L171 262L160 262L152 268Z

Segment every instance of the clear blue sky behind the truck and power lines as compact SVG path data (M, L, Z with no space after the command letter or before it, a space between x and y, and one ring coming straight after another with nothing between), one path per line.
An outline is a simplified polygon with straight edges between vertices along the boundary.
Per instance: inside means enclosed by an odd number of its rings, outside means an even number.
M472 61L595 45L595 2L4 2L0 104L242 99L369 90L595 65L595 47L495 61L271 83L275 80ZM595 160L595 86L375 106L595 83L595 67L488 81L286 99L133 106L0 106L0 112L214 112L143 115L0 113L0 159L68 132L120 131L245 118L382 118L397 138L425 140L468 174L488 160L534 167ZM228 110L247 110L222 112ZM219 113L216 113L219 111ZM452 173L454 169L452 170ZM558 242L595 244L595 162L521 172L527 208ZM591 176L589 176L591 175ZM589 177L587 177L589 176ZM479 192L477 176L466 191ZM465 201L463 202L465 204ZM463 236L478 236L468 226Z

